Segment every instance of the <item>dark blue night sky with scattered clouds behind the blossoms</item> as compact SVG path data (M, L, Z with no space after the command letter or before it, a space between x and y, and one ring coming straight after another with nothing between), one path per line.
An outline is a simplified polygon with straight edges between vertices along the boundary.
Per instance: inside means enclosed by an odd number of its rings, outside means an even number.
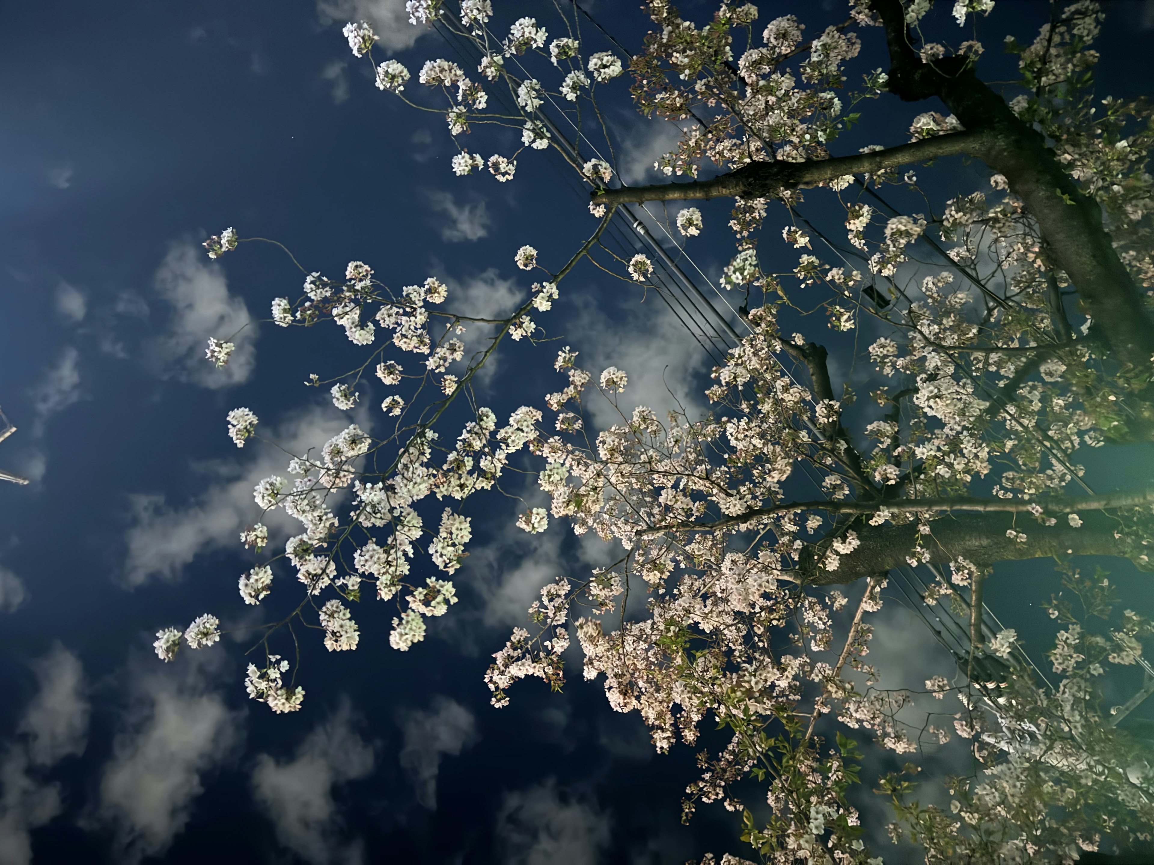
M301 383L360 362L336 329L265 323L215 374L204 338L267 316L301 278L272 247L246 245L216 268L196 245L235 225L284 242L307 270L336 274L364 260L390 285L437 274L451 298L501 309L529 291L512 263L520 245L556 269L592 227L585 201L542 155L524 153L508 185L454 178L442 116L379 92L349 54L346 18L332 23L325 6L0 3L0 405L20 427L0 446L0 467L32 477L0 488L0 862L27 862L25 842L43 863L741 855L737 821L720 806L680 825L692 751L655 755L636 716L608 709L600 683L578 674L549 695L530 682L511 707L489 708L489 655L539 587L607 555L561 525L537 539L510 531L519 502L466 509L475 540L456 579L462 603L411 652L388 647L392 612L381 606L357 610L355 653L329 654L308 634L300 713L273 716L245 698L247 642L226 638L170 665L152 655L160 626L247 614L235 584L253 559L237 533L256 519L253 480L283 473L284 460L238 452L225 413L249 406L280 441L317 446L349 419ZM381 14L403 3L362 6ZM589 3L630 48L645 29L635 6ZM840 2L759 6L763 23L795 13L809 33L844 17ZM983 27L991 47L1007 30L1032 38L1047 8L999 7ZM683 5L698 20L712 8ZM501 27L532 9L501 3ZM1100 90L1134 95L1151 69L1149 5L1110 10ZM390 39L413 90L424 59L456 59L436 35L412 45L407 23ZM855 77L884 66L879 33L863 42ZM1011 77L998 58L987 68ZM614 86L607 116L642 182L673 138L630 114L624 80ZM867 106L881 121L837 148L905 141L908 120L929 107L885 97ZM510 148L497 136L473 149ZM975 171L959 186L974 188ZM720 228L727 206L703 209ZM729 243L724 231L696 241L713 279ZM624 283L579 269L540 323L589 368L629 370L631 399L667 404L665 376L690 406L703 403L704 352ZM499 418L557 389L554 348L502 348L482 385ZM369 408L353 415L362 424L380 422L373 396L369 386ZM1111 459L1101 486L1132 483ZM1125 465L1144 480L1154 473L1146 451ZM991 581L992 603L1011 602L1004 586ZM290 595L282 586L270 600ZM879 657L900 667L932 652L900 609L884 615L905 626Z

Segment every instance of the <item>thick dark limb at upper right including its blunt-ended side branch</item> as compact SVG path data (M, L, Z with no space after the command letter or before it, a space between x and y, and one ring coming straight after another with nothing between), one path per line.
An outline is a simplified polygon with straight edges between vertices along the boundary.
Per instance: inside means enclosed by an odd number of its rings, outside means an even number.
M1097 202L1081 193L1054 151L1046 146L1042 135L1019 120L1005 99L976 76L969 58L942 58L923 63L914 51L900 0L871 0L871 6L885 28L890 91L907 101L939 98L966 131L834 159L752 163L691 183L598 190L593 200L619 204L774 197L782 189L805 188L846 174L876 173L967 153L1003 174L1010 190L1037 220L1057 265L1077 287L1116 360L1124 367L1148 370L1154 355L1154 322L1138 286L1114 250ZM1146 427L1154 426L1154 400L1140 400L1136 411Z

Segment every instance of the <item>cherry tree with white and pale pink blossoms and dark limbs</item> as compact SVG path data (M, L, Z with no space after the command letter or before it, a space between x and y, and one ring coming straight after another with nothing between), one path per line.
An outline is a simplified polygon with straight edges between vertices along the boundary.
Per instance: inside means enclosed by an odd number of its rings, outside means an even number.
M352 610L368 595L396 604L394 648L422 640L426 619L457 600L444 577L471 541L460 503L516 494L510 459L527 450L552 505L517 525L542 532L552 516L614 542L620 559L541 589L527 626L494 655L495 706L525 677L560 689L576 638L584 677L604 680L613 708L638 712L659 751L698 743L706 722L726 730L700 754L685 814L710 802L741 812L743 840L767 862L879 862L850 802L861 751L847 730L898 754L920 753L927 736L968 749L974 770L947 781L949 808L912 800L909 777L879 782L891 835L921 844L928 862L1070 862L1149 841L1154 775L1117 722L1151 689L1110 707L1103 683L1154 672L1142 657L1154 626L1119 611L1108 577L1072 559L1151 570L1154 488L1095 490L1080 462L1087 450L1154 438L1151 108L1094 90L1103 16L1091 0L1054 2L1040 32L998 39L1019 80L986 83L979 30L994 5L957 0L935 17L931 0L854 0L845 22L807 39L795 16L760 21L752 5L695 22L649 0L652 31L628 58L594 50L600 37L583 32L575 5L509 24L489 0L412 0L413 25L436 28L477 63L429 59L415 82L374 55L368 24L350 23L352 53L373 63L380 90L444 115L455 174L510 182L519 160L550 151L586 185L593 219L565 262L516 251L539 281L502 319L454 311L433 277L390 288L360 261L343 278L302 269L304 293L272 301L276 325L332 321L364 346L357 369L313 377L337 408L358 405L364 376L395 391L374 422L387 432L352 424L293 458L293 481L271 476L255 491L260 509L283 507L302 531L240 578L240 595L255 606L287 592L273 589L284 569L305 592L262 627L249 695L299 709L297 665L277 648L293 645L285 631L295 623L323 632L329 650L354 649ZM887 68L856 68L868 40L884 43ZM684 129L655 163L659 185L621 180L602 106L628 81L643 115ZM911 103L908 116L871 134L908 140L849 152L839 141L883 93ZM472 146L489 127L517 130L520 148L465 146L466 133ZM979 175L977 189L942 191ZM668 213L670 202L711 198L732 202L735 248L718 289L737 309L707 416L642 407L592 428L591 400L616 406L628 370L584 369L570 347L555 358L559 390L539 405L502 424L479 404L478 371L505 338L538 339L578 264L655 287L668 256L726 232L691 204L668 218L643 205ZM810 206L824 216L811 220ZM661 240L627 258L604 235L630 208ZM205 248L219 257L262 240L228 228ZM782 248L796 266L773 270ZM470 348L466 331L481 334ZM231 348L222 334L208 358L223 366ZM861 399L835 382L831 351L841 368L868 368ZM238 446L260 438L249 408L227 421ZM260 550L268 529L256 522L241 540ZM1040 557L1057 562L1050 675L1032 668L1014 630L992 631L982 603L995 565ZM425 576L429 565L443 577ZM931 574L920 600L967 620L971 644L957 669L927 680L943 700L929 719L912 715L909 692L878 687L865 660L887 580L914 567ZM160 631L157 653L168 660L219 634L203 615L183 633ZM739 798L750 780L767 822Z

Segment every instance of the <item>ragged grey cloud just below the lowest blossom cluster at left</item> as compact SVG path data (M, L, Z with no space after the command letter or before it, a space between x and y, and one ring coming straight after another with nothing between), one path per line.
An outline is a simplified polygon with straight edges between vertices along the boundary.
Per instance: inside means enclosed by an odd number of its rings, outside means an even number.
M367 777L374 750L352 729L351 710L343 702L327 723L319 725L280 762L260 754L253 769L253 795L272 820L277 838L302 859L317 865L359 863L360 844L338 840L339 818L332 790Z

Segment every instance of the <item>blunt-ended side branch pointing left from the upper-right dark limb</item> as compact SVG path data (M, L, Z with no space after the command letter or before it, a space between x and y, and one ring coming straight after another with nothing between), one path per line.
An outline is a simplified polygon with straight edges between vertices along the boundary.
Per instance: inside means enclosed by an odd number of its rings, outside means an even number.
M979 156L988 145L986 133L964 131L899 144L869 153L839 156L805 163L750 163L728 174L690 183L599 189L593 193L598 204L625 202L682 201L689 198L772 198L782 189L808 189L846 174L876 174L886 168L923 163L943 156L968 153Z

